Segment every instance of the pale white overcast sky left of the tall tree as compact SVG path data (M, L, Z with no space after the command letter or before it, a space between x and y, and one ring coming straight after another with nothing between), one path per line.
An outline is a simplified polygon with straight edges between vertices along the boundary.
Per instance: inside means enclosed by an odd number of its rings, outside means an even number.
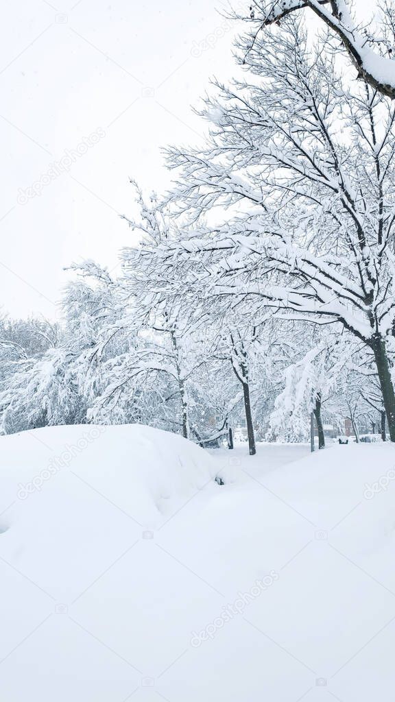
M222 5L224 7L224 5ZM15 0L1 28L0 307L53 318L73 261L131 244L129 176L161 191L160 148L198 143L209 78L233 72L221 0ZM201 50L205 42L205 50ZM68 170L65 170L65 169ZM34 194L34 197L32 197Z

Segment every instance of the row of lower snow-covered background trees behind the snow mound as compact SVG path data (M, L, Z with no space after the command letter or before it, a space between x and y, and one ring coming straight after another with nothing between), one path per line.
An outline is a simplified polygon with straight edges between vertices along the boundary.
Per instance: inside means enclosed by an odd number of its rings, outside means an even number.
M324 424L344 434L347 418L357 441L360 428L373 433L377 428L386 439L375 373L353 361L344 384L341 353L337 368L332 360L328 366L333 350L323 343L304 353L309 344L302 347L300 326L290 324L286 340L279 340L271 319L249 337L240 329L219 337L214 330L212 336L207 330L204 335L189 331L186 343L186 331L180 334L164 315L162 326L157 319L155 326L138 324L131 335L129 320L119 324L112 316L115 288L109 291L105 271L89 264L82 275L94 283L70 284L63 322L0 319L2 434L58 424L136 422L202 446L222 441L233 449L234 439L245 439L254 455L257 440L307 441L311 405L319 448L325 446ZM296 355L299 361L290 363ZM368 378L364 392L362 377Z

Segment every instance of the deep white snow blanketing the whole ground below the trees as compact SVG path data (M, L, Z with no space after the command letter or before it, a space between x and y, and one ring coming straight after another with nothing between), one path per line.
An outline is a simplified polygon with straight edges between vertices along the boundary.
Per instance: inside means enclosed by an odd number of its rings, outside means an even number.
M307 451L1 437L0 699L392 700L395 449Z

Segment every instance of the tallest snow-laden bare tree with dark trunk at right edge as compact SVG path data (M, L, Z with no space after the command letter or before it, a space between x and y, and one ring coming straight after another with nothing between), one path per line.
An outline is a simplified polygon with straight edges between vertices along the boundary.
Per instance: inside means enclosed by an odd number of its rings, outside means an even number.
M394 441L394 102L349 86L328 37L311 49L294 15L284 25L247 54L241 41L247 79L207 100L208 147L169 152L182 225L156 286L255 322L270 308L339 324L373 352Z

